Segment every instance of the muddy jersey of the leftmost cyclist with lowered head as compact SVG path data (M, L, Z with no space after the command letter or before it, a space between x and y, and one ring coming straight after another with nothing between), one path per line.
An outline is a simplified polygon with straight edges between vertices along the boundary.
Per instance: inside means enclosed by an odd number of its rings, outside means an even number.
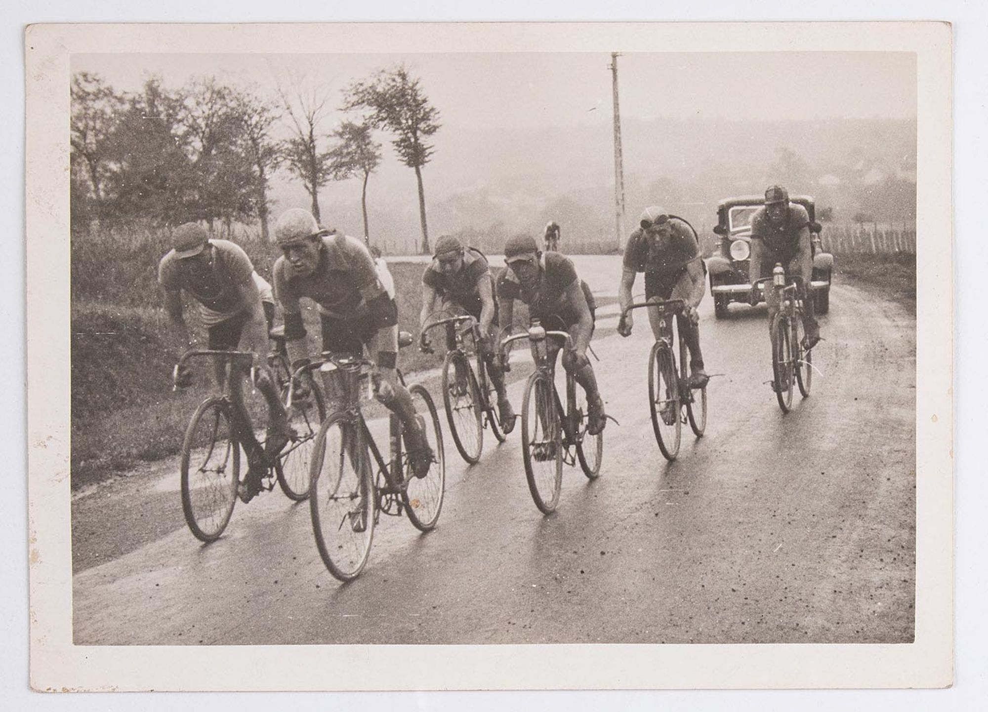
M247 253L229 240L209 240L208 264L182 260L172 250L158 265L158 282L169 290L185 289L199 303L203 323L213 326L238 314L247 306L240 287L254 274Z

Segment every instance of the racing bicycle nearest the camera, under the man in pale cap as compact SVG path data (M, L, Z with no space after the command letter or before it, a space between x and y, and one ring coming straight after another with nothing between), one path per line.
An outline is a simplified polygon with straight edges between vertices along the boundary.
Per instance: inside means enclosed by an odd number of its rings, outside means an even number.
M408 346L411 335L402 332L398 343ZM340 410L323 421L315 439L309 499L312 531L330 573L347 582L356 579L368 562L374 525L381 513L405 514L421 531L436 526L446 487L443 432L429 391L420 384L409 387L416 418L434 454L429 470L421 476L414 474L398 417L388 414L388 459L365 420L362 402L373 399L373 362L327 352L320 360L301 366L295 376L316 368L342 396ZM400 370L398 378L404 385Z

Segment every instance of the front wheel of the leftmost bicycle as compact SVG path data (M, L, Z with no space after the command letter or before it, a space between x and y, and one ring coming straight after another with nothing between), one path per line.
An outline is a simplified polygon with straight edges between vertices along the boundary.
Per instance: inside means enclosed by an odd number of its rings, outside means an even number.
M182 512L196 538L215 541L237 503L240 445L229 404L207 398L196 409L182 442Z

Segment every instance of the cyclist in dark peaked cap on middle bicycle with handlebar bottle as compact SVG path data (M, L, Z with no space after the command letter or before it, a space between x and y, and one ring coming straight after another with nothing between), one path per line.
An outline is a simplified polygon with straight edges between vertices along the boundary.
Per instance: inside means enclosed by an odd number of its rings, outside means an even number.
M497 282L501 323L511 330L515 299L529 305L529 316L548 330L560 329L572 337L572 349L565 349L562 366L573 374L587 394L587 432L597 435L607 425L604 401L587 357L587 347L594 334L597 304L587 282L577 277L573 262L557 252L542 253L528 235L511 238L504 246L508 264ZM549 361L559 351L555 340L546 342Z

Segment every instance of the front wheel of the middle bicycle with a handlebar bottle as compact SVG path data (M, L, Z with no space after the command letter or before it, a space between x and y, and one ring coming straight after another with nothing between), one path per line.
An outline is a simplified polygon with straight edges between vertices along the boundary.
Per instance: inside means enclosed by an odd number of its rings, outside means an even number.
M522 455L535 507L550 514L562 486L562 434L555 387L540 371L529 376L522 401Z

